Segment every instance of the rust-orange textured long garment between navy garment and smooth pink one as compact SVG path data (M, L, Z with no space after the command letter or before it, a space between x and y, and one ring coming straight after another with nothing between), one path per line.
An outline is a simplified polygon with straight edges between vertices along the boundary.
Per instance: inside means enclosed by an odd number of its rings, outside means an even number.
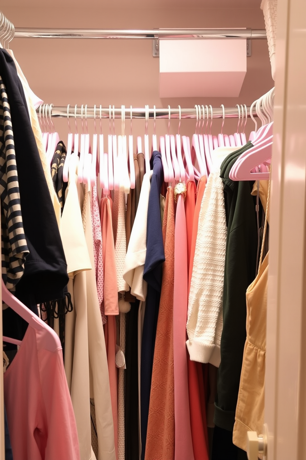
M174 460L173 279L174 194L168 187L162 236L165 262L161 282L150 392L145 460Z

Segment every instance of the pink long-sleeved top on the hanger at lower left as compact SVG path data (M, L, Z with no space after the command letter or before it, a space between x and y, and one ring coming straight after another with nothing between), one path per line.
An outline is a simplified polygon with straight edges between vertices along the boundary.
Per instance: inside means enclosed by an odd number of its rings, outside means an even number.
M79 460L77 427L56 334L29 324L3 377L13 458Z

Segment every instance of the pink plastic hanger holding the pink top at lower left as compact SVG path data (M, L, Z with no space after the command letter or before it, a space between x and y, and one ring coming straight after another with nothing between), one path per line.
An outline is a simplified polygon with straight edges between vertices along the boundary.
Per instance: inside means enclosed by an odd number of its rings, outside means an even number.
M16 297L13 296L12 293L10 293L3 280L1 279L1 288L2 288L2 301L6 303L13 311L17 313L17 315L21 316L22 319L24 319L28 324L32 327L35 328L38 331L46 331L47 337L45 337L46 340L48 340L47 343L45 343L46 348L48 348L48 345L50 346L50 349L54 349L54 344L58 346L58 336L56 332L51 329L45 322L43 322L33 311L31 311L29 308L27 308L25 305L20 302ZM11 339L10 337L3 336L3 341L12 343L15 345L21 345L22 341L17 340L17 339Z

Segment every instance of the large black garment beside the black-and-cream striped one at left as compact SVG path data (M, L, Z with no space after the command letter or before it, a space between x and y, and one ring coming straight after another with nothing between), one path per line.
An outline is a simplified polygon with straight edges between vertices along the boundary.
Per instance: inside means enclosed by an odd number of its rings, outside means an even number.
M37 313L37 304L64 297L67 264L22 84L15 63L3 49L0 75L11 106L23 228L30 251L15 295ZM25 329L23 324L23 333Z

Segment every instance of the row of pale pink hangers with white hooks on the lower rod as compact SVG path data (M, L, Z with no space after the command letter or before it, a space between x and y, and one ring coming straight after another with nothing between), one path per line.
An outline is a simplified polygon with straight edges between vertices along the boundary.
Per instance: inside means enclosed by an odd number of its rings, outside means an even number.
M273 116L273 91L274 90L271 90L258 100L254 101L254 103L251 105L250 116L255 123L255 130L251 132L249 140L253 142L254 147L252 147L252 150L248 150L248 153L253 152L255 148L258 150L261 147L266 146L266 143L264 143L266 139L268 139L268 141L271 141L271 138L269 138L269 136L266 136L266 134L269 134L272 129L271 122ZM43 104L39 107L39 121L43 132L43 141L46 150L47 160L50 164L52 162L52 158L56 150L56 145L60 140L58 133L55 131L54 123L51 118L52 106L53 104ZM262 125L258 131L257 121L253 116L254 106L256 114L261 120ZM194 181L195 179L199 179L202 176L208 177L213 165L213 151L217 147L234 147L238 149L239 147L245 145L247 142L245 135L245 125L247 121L246 105L239 106L239 104L237 104L239 114L237 132L230 135L223 134L225 109L223 104L221 107L223 109L223 121L221 132L217 136L214 136L211 134L211 126L213 119L213 109L211 105L195 105L195 134L193 134L190 142L188 136L180 135L180 106L178 106L178 133L176 135L169 133L171 122L171 109L170 106L168 106L168 131L165 136L160 136L158 146L156 136L156 109L154 106L154 131L152 135L150 149L148 135L149 106L146 105L145 135L144 138L142 138L141 136L137 136L136 150L136 153L143 153L145 156L146 171L150 170L150 156L152 152L154 150L159 150L161 152L161 162L163 166L165 182L184 182L187 179ZM130 134L128 135L128 138L125 134L125 106L122 105L121 107L121 135L119 136L115 134L115 109L114 106L112 107L112 109L111 106L109 106L109 134L107 136L107 153L106 150L104 150L104 135L102 133L101 106L100 117L99 109L97 109L97 107L94 106L94 135L92 138L92 143L90 143L90 136L88 133L87 105L81 106L82 133L80 135L78 134L77 126L78 106L75 105L74 109L74 120L76 127L76 132L74 134L72 134L70 127L69 108L70 105L67 105L67 122L69 127L69 134L67 139L67 156L63 168L63 180L65 182L68 181L68 167L71 155L78 155L79 151L78 182L86 182L89 186L93 186L95 184L96 178L99 177L100 188L103 190L103 193L105 195L108 195L111 190L122 190L125 193L129 193L130 189L135 188L132 106L130 107ZM98 134L96 132L97 118L100 120L99 139ZM205 120L206 126L205 132L203 133ZM210 127L209 133L207 133L209 121ZM267 127L267 129L263 129L263 127ZM142 140L144 140L144 149L142 149ZM267 148L268 147L270 147L270 144L267 146ZM243 157L241 158L241 161L242 159ZM258 168L257 170L255 168L252 174L259 173L267 175L268 169L265 166L265 162L267 160L268 158L265 158L262 161L261 172L258 172ZM246 178L241 177L242 166L240 163L237 163L237 166L235 165L235 170L233 170L233 174L231 174L231 178L233 178L233 180L246 180ZM248 173L249 176L251 169ZM250 180L250 178L248 180Z

